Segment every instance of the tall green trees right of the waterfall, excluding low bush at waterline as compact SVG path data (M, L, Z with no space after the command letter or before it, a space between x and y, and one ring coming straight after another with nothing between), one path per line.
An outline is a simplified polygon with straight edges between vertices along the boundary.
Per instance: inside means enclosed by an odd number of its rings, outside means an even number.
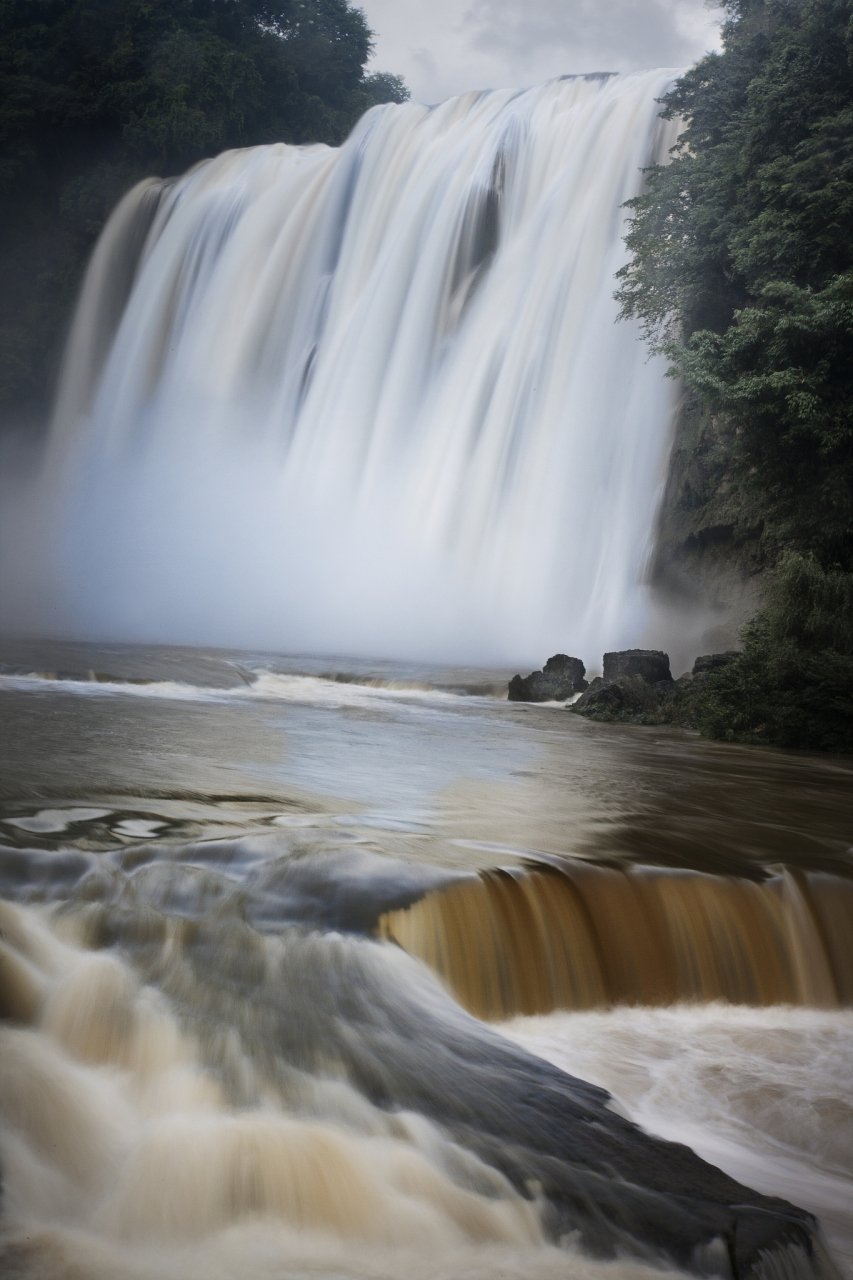
M727 10L663 100L685 128L631 201L619 297L736 424L781 540L853 567L853 0Z

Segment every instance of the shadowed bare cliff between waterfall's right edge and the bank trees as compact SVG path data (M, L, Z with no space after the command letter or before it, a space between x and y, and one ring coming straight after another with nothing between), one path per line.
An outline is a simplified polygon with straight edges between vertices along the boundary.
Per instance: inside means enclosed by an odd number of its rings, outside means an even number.
M686 392L674 430L649 579L672 605L716 614L719 641L733 643L781 547L739 483L736 426Z

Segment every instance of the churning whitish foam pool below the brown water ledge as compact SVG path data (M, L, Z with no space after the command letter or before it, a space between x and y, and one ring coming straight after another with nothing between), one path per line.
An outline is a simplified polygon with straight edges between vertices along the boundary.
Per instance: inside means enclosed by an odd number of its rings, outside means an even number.
M649 1133L811 1210L853 1276L853 1012L622 1007L501 1030L603 1085Z

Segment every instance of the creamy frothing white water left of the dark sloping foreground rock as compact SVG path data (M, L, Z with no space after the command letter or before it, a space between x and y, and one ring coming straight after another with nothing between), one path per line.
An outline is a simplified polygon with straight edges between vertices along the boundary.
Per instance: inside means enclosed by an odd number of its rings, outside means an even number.
M368 1262L371 1247L491 1243L512 1257L544 1245L535 1202L426 1120L386 1116L320 1076L305 1082L313 1101L301 1108L269 1087L236 1108L168 1002L120 960L87 955L8 906L0 924L4 991L29 1024L0 1030L3 1235L40 1277L51 1247L87 1275L99 1254L146 1274L146 1245L160 1260L178 1251L170 1274L197 1274L200 1260L181 1249L247 1220L268 1235L279 1224L279 1247L288 1231L307 1234L301 1252L315 1262L334 1258L336 1240ZM242 1070L252 1073L248 1059Z

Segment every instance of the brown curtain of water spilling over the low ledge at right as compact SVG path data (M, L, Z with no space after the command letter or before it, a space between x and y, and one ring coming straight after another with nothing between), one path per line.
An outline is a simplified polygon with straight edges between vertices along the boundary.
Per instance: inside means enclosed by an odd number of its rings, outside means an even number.
M853 1004L853 882L763 882L555 860L388 911L379 933L479 1018L726 1000Z

